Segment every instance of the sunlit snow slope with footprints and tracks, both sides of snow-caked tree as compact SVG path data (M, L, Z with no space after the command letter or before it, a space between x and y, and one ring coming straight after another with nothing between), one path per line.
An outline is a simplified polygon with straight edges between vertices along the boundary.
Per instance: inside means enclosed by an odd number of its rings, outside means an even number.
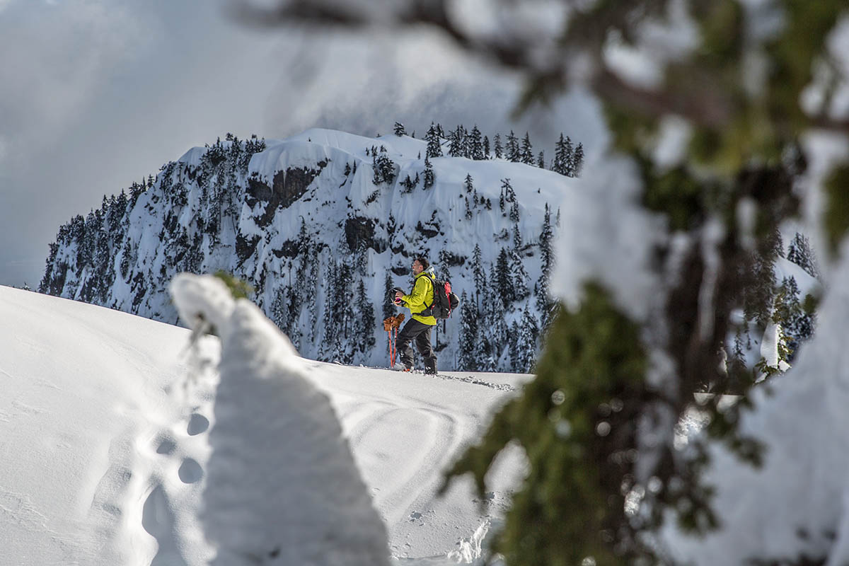
M193 354L183 328L5 287L0 319L2 562L209 562L216 551L200 509L214 456L218 339L201 339ZM437 497L441 470L528 376L432 377L319 361L303 361L302 373L340 416L385 521L388 555L479 556L518 460L505 462L482 507L464 481ZM240 433L273 462L304 462L273 453L283 444L263 444L259 430ZM281 520L291 520L287 511Z

